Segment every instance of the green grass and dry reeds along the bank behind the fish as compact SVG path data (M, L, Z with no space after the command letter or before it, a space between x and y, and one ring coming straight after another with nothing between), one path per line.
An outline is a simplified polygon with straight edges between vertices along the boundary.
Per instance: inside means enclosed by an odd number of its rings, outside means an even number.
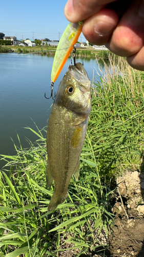
M19 140L14 156L1 155L6 161L0 173L2 257L107 252L115 180L127 170L143 172L144 144L144 74L124 58L117 63L111 57L110 66L101 70L101 82L97 74L91 83L92 111L79 179L71 179L69 195L56 211L47 213L54 184L46 186L46 128L27 128L37 135L34 144L29 141L30 149Z

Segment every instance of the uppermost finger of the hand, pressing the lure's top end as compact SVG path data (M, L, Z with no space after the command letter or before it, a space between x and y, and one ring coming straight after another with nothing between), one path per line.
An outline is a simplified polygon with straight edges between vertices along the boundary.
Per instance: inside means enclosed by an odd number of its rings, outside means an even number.
M65 6L65 16L69 22L79 22L105 8L116 0L68 0Z

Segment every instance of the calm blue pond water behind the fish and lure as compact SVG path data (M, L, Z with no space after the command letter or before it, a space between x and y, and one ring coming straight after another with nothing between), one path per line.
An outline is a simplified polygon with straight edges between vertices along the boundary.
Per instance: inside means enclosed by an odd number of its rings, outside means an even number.
M78 61L82 62L76 59ZM0 53L0 154L15 154L13 141L19 146L17 134L23 148L29 147L26 138L32 142L37 139L36 135L24 127L29 126L35 130L34 122L38 128L47 126L53 100L46 99L44 94L46 92L49 97L51 93L52 64L53 57ZM70 64L71 60L68 59L54 83L55 91ZM95 59L84 59L84 67L91 80L94 67L99 70ZM0 169L4 164L0 160Z

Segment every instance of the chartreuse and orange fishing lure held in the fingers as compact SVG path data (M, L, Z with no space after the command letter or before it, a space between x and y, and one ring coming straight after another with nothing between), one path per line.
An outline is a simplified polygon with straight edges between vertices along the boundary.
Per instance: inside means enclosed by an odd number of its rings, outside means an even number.
M79 35L82 31L84 21L78 23L69 23L65 29L61 39L58 43L52 71L51 71L51 82L54 83L58 78L61 69L63 69L72 49L73 45L77 42Z

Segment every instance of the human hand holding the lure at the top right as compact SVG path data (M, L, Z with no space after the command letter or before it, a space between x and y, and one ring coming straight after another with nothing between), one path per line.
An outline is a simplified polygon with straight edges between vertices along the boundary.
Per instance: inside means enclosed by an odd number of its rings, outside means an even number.
M89 42L106 45L144 70L144 0L69 0L65 16L74 23L86 20L83 34Z

